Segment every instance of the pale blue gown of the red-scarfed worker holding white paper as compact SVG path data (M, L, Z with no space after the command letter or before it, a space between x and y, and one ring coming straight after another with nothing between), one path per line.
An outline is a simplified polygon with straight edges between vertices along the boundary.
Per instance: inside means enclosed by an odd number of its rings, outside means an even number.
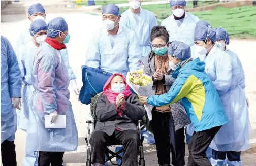
M32 109L29 110L26 151L74 151L77 127L69 101L69 75L60 50L46 42L39 47L33 65ZM66 115L66 129L45 128L44 115L54 110Z

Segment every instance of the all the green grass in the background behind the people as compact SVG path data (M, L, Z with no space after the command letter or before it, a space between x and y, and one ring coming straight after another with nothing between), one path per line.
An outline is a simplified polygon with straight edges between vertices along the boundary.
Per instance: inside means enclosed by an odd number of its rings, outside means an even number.
M198 6L206 6L215 3L214 1L199 1ZM192 8L192 2L187 2L186 9ZM152 11L161 24L165 18L172 14L169 5L145 5L143 9ZM121 13L129 7L121 8ZM248 39L256 38L256 7L255 6L242 6L237 8L223 8L218 7L212 11L192 12L201 20L208 21L213 28L222 26L225 28L231 38Z

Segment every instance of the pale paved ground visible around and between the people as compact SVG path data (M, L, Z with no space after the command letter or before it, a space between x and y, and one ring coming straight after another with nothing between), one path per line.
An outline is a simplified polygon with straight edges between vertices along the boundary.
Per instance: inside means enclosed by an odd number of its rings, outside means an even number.
M38 1L33 1L36 3ZM66 9L65 5L59 1L41 1L45 6L47 12L46 21L61 16L66 19L69 25L69 33L71 35L70 42L67 44L69 50L69 60L74 73L77 76L77 82L79 86L82 86L81 81L81 65L85 63L85 55L92 34L102 26L101 16L87 14L85 10ZM54 4L53 4L54 3ZM25 4L13 4L6 7L1 11L1 35L7 37L13 46L16 44L16 40L20 31L24 28L28 28L30 25L27 20L27 8L31 2ZM256 144L256 68L255 68L255 53L252 49L255 47L256 41L254 40L231 40L229 48L234 52L237 52L246 74L246 93L250 99L250 121L252 125L252 132L250 135L251 143L254 148L246 153L243 153L242 159L244 165L255 166L255 144ZM84 137L86 136L86 120L88 120L88 106L76 101L76 97L72 88L71 90L71 102L75 119L78 127L79 146L78 150L74 152L65 153L66 165L85 165L86 161L86 143ZM25 132L18 129L16 132L16 153L18 165L22 165L22 159L24 158L25 151ZM186 160L187 160L186 150ZM253 158L254 157L254 158ZM154 145L145 144L145 160L146 165L157 165L157 157Z

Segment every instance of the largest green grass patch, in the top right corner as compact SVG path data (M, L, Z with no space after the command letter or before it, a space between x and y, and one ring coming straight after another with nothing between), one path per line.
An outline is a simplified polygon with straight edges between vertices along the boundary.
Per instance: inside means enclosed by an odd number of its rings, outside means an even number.
M237 8L218 7L208 12L193 12L202 20L208 21L213 28L222 26L232 38L256 38L256 7Z

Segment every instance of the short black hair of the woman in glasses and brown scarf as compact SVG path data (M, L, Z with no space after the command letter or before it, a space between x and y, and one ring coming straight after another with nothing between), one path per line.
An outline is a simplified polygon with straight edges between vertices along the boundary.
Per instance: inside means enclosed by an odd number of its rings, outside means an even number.
M169 42L169 33L164 26L154 26L150 33L150 41L154 40L155 38L161 38Z

